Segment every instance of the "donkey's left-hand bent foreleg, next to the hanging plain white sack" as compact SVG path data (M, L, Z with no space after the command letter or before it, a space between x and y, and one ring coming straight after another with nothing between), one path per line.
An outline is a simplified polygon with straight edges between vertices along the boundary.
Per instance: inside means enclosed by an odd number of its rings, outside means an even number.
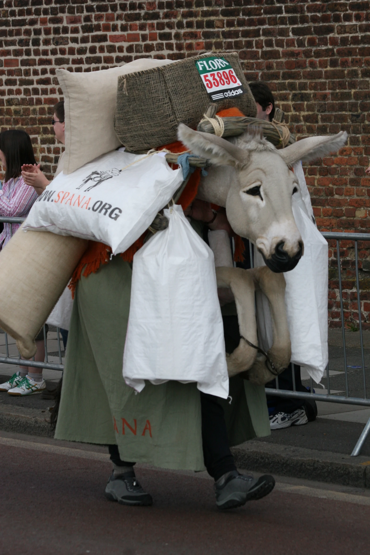
M240 335L257 344L255 316L255 285L252 276L241 268L216 268L217 287L230 287L235 297ZM235 376L248 370L254 363L257 351L240 340L234 352L226 355L227 372Z

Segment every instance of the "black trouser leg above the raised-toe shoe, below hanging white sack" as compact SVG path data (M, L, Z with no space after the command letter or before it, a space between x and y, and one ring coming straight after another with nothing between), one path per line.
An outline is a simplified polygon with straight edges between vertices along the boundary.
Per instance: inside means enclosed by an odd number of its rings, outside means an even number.
M226 472L236 470L231 455L224 409L217 397L200 392L202 412L202 445L204 464L212 478L218 480Z

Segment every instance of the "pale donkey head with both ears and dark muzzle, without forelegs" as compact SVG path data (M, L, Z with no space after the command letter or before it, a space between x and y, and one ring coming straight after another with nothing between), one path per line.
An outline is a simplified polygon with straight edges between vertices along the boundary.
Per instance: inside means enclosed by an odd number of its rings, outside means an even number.
M232 229L256 245L273 272L295 268L303 243L292 213L298 181L290 166L338 150L347 133L310 137L277 150L259 129L228 141L180 124L179 139L212 163L197 196L225 206Z

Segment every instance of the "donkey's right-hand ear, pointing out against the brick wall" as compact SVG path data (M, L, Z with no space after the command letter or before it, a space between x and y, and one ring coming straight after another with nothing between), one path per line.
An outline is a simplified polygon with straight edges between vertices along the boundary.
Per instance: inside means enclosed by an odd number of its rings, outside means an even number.
M277 153L288 165L294 164L298 160L313 162L325 154L337 152L346 142L347 132L340 131L337 135L330 137L307 137L307 139L298 140L286 148L277 150Z

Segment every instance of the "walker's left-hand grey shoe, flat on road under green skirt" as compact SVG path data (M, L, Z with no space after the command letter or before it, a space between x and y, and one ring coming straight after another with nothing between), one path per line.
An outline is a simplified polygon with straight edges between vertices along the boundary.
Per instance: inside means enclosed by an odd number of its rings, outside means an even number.
M125 472L114 477L114 472L105 488L105 497L109 501L118 501L121 505L152 505L153 499L140 486L134 471Z

